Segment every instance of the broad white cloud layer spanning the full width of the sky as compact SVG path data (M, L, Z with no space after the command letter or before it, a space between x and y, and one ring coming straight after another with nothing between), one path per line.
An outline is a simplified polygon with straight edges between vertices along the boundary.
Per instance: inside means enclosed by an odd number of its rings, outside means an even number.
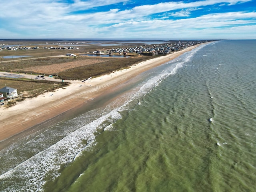
M174 34L189 38L199 32L200 36L203 33L207 36L212 34L211 31L223 32L228 28L239 28L244 34L244 28L237 25L254 25L245 34L256 34L256 12L215 13L174 20L176 16L189 17L193 11L198 11L203 6L223 6L248 0L166 2L137 6L129 10L113 7L105 12L84 14L70 13L96 8L98 5L120 2L126 4L128 0L74 0L70 5L52 0L4 1L0 14L0 32L5 35L3 38L19 38L19 35L23 38L99 38L104 34L111 34L110 37L116 38L162 38ZM158 19L152 19L152 14L158 14ZM173 19L168 19L170 16ZM250 36L256 38L255 35Z

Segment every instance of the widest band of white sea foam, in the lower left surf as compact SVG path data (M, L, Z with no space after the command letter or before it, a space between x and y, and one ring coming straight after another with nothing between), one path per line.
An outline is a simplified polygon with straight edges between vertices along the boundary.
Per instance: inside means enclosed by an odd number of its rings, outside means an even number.
M59 176L58 170L63 164L72 162L80 155L82 150L90 150L95 145L95 135L100 125L108 120L115 121L121 118L117 110L102 116L93 122L72 132L50 148L32 156L30 159L19 164L12 170L2 174L0 180L23 180L20 184L13 184L6 191L18 192L25 191L42 191L45 184L46 175L52 179ZM83 144L87 140L87 144Z

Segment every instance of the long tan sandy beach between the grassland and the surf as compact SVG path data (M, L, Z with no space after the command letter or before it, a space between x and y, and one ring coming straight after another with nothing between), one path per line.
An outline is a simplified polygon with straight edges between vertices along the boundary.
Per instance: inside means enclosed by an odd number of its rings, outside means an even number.
M113 74L92 78L90 82L72 81L66 88L59 88L55 92L47 92L37 98L25 99L10 108L1 107L0 143L32 126L72 108L77 108L84 102L90 102L90 100L107 92L114 86L122 85L122 83L138 74L166 63L200 45L197 44L173 54L140 62L129 69L116 71Z

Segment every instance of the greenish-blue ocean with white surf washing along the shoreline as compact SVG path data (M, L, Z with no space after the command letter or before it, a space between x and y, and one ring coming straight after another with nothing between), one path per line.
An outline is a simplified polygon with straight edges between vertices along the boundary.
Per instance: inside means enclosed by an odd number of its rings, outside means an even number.
M202 44L0 152L1 192L253 192L256 40Z

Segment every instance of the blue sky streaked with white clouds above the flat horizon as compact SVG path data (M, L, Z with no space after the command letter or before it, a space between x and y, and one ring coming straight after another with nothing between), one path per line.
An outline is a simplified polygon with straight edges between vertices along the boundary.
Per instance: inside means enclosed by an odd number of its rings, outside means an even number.
M1 0L17 38L256 39L256 0Z

